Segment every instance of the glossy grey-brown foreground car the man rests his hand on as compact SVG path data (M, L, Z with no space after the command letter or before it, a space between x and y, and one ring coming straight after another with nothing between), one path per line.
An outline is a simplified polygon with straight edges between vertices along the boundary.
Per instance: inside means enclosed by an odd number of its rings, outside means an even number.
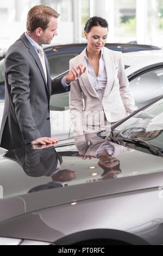
M154 114L163 126L163 97L139 114ZM131 149L90 136L91 143L65 139L49 148L28 146L5 154L1 149L1 244L163 244L163 157L143 145ZM156 143L163 148L162 137ZM106 150L110 145L112 156ZM104 157L97 157L102 147Z

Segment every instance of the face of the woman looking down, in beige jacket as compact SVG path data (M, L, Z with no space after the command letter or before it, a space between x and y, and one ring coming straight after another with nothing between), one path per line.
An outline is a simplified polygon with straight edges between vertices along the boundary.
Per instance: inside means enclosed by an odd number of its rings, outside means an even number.
M89 33L84 32L87 39L88 50L100 52L102 47L106 44L108 36L108 28L101 26L92 27Z

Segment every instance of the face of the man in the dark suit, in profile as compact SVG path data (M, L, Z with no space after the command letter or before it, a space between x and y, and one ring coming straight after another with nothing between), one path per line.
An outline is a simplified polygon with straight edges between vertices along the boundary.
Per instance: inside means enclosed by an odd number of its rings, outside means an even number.
M43 31L42 35L40 36L40 42L42 45L49 45L51 44L54 35L57 34L58 28L58 20L55 17L51 17L51 21L48 23L48 27Z

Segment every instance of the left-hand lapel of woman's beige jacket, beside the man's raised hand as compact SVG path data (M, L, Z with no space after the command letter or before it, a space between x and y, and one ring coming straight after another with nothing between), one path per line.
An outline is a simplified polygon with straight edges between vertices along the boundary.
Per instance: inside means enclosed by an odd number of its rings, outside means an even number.
M98 94L96 93L95 88L92 86L92 84L91 84L91 82L89 80L89 74L88 74L88 71L87 71L87 62L86 62L86 58L85 58L85 53L86 53L86 48L79 55L79 63L78 63L78 65L79 64L83 64L83 66L86 66L86 71L81 76L81 79L83 81L84 87L87 90L87 92L90 93L91 96L93 96L93 97L98 97Z

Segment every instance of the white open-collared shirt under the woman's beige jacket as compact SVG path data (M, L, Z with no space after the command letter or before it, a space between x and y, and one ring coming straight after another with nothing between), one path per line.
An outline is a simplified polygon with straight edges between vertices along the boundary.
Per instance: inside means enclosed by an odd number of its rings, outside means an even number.
M96 93L98 94L99 98L102 100L106 82L107 82L103 48L101 50L101 58L99 59L98 76L95 75L95 71L93 70L90 60L87 58L86 52L85 52L85 58L86 58L87 71L89 74L90 83L95 88Z

